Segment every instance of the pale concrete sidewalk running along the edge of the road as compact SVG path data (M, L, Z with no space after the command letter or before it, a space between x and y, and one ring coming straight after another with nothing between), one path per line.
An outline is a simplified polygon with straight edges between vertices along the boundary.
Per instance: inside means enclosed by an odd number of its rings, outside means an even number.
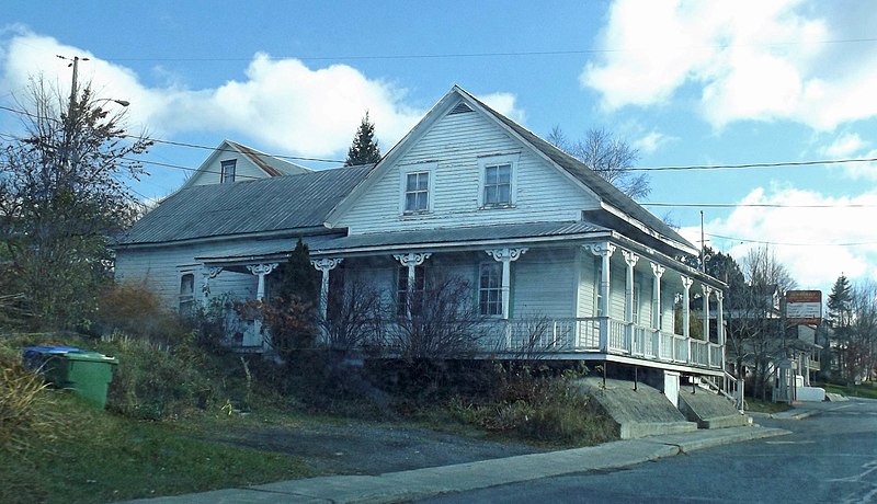
M332 476L133 501L139 503L386 503L425 499L561 474L616 469L650 460L789 434L759 426L701 429L586 448L531 454L379 476Z

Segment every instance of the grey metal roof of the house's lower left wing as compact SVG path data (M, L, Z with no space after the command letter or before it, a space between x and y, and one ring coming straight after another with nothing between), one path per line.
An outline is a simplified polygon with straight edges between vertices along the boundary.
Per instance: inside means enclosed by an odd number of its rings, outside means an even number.
M193 185L138 220L117 245L322 227L373 164L234 184Z

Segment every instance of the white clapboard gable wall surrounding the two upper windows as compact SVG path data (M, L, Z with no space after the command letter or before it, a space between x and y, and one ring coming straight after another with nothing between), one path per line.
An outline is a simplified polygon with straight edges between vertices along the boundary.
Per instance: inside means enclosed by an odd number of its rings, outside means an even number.
M519 153L514 208L479 209L479 157ZM401 170L434 165L433 210L400 215ZM401 168L401 170L400 170ZM578 220L596 202L547 161L478 113L441 118L339 219L351 234L490 224Z

